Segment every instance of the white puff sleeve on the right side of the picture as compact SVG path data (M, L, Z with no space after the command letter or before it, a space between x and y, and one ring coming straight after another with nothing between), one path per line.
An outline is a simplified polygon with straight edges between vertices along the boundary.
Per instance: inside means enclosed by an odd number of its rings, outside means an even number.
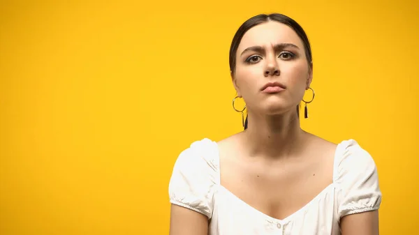
M382 195L375 162L353 139L344 142L336 182L339 218L379 209Z

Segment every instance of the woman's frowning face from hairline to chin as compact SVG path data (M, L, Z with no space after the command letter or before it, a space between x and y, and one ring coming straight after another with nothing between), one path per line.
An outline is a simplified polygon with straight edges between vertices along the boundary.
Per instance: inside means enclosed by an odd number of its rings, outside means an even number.
M304 44L286 24L270 21L249 29L237 48L236 61L233 84L253 112L273 115L295 110L311 83Z

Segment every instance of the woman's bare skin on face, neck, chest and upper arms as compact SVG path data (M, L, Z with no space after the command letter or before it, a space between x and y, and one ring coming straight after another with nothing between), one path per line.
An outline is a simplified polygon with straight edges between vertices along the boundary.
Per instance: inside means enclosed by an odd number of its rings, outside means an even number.
M279 22L254 26L236 56L231 77L237 96L247 104L249 126L218 143L221 185L282 220L332 183L336 145L300 128L295 107L311 84L313 64L293 29ZM281 82L286 89L264 93L267 82ZM207 232L205 215L172 205L170 235ZM341 234L377 235L378 211L344 216Z

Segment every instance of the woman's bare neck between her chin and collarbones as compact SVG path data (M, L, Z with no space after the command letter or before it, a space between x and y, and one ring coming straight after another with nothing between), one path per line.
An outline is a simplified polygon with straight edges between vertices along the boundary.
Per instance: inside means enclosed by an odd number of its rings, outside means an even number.
M244 146L250 156L264 158L293 155L307 137L295 112L274 116L257 116L249 112L249 125L243 134Z

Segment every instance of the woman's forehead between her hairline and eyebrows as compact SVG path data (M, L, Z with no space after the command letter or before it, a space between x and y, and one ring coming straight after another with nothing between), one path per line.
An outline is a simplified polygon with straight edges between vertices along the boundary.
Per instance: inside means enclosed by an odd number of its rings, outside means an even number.
M279 22L266 22L249 29L242 38L237 52L242 52L247 47L272 46L278 43L293 43L304 48L302 40L290 26Z

